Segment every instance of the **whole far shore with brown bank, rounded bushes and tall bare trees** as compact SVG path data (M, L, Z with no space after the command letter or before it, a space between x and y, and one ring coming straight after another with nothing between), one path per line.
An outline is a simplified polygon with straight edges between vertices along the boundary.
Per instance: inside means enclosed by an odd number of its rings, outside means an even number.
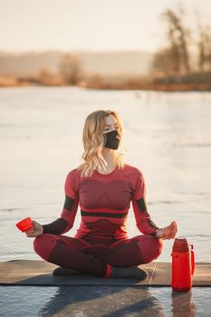
M166 44L154 54L148 76L86 73L82 60L66 53L58 64L58 72L43 67L31 78L5 79L5 86L35 84L94 89L211 91L211 27L203 24L196 13L196 25L191 30L185 24L186 14L180 7L177 11L167 9L161 15L167 27ZM4 86L4 79L0 78L1 85Z

